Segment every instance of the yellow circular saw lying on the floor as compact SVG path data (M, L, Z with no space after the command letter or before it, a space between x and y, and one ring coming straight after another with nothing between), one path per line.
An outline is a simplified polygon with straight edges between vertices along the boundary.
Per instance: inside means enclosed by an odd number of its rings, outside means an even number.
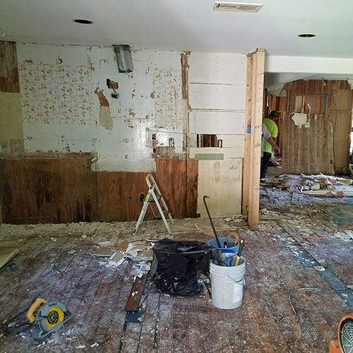
M39 325L40 333L37 338L44 338L49 333L59 331L71 317L70 311L60 301L46 301L40 298L35 300L26 314L30 323Z

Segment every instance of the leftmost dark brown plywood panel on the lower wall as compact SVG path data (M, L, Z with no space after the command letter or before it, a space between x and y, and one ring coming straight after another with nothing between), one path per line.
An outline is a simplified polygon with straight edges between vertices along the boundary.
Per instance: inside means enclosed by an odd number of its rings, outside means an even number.
M1 160L3 220L11 224L97 220L90 158Z

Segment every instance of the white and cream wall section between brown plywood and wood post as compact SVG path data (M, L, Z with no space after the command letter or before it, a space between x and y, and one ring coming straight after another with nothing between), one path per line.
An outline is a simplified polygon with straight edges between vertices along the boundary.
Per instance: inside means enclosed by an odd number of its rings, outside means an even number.
M189 132L217 134L223 143L222 148L189 149L191 158L196 154L223 157L198 162L198 213L207 216L203 196L208 195L212 215L237 215L241 212L246 57L191 53L189 66Z

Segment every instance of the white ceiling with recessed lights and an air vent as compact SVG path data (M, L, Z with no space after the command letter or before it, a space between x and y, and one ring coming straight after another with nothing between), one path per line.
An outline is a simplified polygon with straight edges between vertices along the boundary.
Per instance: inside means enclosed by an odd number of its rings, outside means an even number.
M213 0L2 0L0 40L241 54L265 48L267 56L353 63L353 0L239 2L263 6L242 13L214 11Z

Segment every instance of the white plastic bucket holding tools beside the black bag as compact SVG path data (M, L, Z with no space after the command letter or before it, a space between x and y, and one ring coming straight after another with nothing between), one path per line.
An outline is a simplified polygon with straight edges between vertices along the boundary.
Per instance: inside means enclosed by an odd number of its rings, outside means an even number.
M234 309L243 302L245 258L237 266L210 263L212 303L220 309Z

